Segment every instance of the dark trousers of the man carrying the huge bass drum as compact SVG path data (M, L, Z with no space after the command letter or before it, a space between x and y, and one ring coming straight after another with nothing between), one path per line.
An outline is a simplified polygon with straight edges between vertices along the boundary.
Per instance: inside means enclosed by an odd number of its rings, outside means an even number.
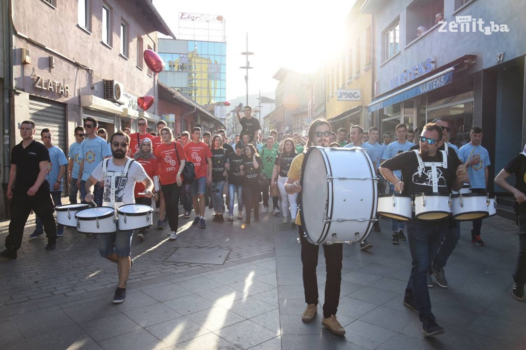
M305 302L318 305L318 280L316 278L316 266L318 266L319 245L310 243L304 237L301 225L298 226L299 239L301 242L301 263L303 264L303 288L305 291ZM323 244L323 255L325 255L325 303L323 304L323 317L336 315L340 302L341 285L341 261L343 259L343 244Z

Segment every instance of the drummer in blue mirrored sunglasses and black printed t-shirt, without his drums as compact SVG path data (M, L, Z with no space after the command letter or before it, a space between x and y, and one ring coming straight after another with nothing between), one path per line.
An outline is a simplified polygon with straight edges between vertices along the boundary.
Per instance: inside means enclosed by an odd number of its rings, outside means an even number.
M380 166L380 172L394 185L395 191L403 194L438 192L449 194L458 191L468 178L466 168L457 168L445 151L439 151L442 145L442 129L435 123L423 127L419 137L420 149L401 152ZM395 174L401 171L402 179ZM431 312L431 301L427 287L427 274L431 257L439 249L440 243L449 227L449 218L441 220L408 221L409 250L412 269L403 304L418 312L422 322L422 331L426 336L444 333L444 329L435 321Z

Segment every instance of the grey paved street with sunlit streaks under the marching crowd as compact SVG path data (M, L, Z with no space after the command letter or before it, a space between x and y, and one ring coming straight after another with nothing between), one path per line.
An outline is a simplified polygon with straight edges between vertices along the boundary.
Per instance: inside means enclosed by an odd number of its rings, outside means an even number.
M209 215L210 210L207 210ZM210 215L209 215L210 216ZM156 218L155 218L156 219ZM54 251L29 240L18 259L0 262L2 349L525 349L526 302L510 292L517 227L485 220L485 246L470 242L470 224L446 266L449 289L430 289L433 313L446 334L424 338L418 315L402 305L411 260L407 242L390 243L390 222L371 233L372 250L344 247L338 319L345 337L321 327L325 265L319 257L320 305L304 311L297 231L261 214L261 222L184 227L134 240L126 302L113 305L115 265L96 240L67 229ZM0 223L0 240L8 222ZM229 249L223 265L166 262L178 248ZM320 250L320 253L322 250Z

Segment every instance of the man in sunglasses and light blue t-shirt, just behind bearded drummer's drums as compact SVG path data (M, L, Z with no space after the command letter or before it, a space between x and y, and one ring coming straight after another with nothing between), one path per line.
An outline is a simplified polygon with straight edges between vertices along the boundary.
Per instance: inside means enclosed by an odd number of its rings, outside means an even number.
M84 186L86 180L103 159L109 158L112 155L112 150L109 148L108 142L102 137L97 136L97 127L97 119L87 117L84 120L86 137L84 141L80 143L80 153L78 155L80 167L78 170L79 178L77 179L77 187L80 189L80 199L83 203L85 203L84 198L86 197ZM95 203L100 207L102 205L103 194L103 188L100 187L100 184L97 183L95 185L93 193L95 195Z

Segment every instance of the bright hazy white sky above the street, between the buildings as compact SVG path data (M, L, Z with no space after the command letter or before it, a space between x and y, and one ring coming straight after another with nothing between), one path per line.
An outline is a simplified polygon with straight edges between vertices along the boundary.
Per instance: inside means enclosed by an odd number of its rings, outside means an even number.
M274 91L272 76L280 67L313 73L338 50L344 21L354 0L218 1L180 2L154 0L172 32L178 37L179 12L221 15L226 20L227 99L245 96L246 33L249 56L248 92Z

